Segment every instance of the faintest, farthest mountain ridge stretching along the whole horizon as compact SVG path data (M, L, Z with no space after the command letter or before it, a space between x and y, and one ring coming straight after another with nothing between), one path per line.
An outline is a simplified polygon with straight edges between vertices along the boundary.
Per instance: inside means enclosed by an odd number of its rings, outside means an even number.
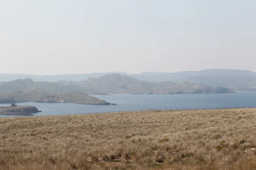
M90 77L99 78L106 74L122 74L138 80L144 80L147 82L164 82L174 81L177 79L187 79L189 77L198 76L256 76L256 73L248 70L230 70L230 69L209 69L201 71L182 71L175 73L158 73L158 72L143 72L140 74L128 74L125 72L109 72L109 73L92 73L92 74L63 74L63 75L44 75L37 76L32 74L0 74L0 82L12 81L16 79L30 78L34 81L45 81L45 82L57 82L60 80L64 81L84 81Z

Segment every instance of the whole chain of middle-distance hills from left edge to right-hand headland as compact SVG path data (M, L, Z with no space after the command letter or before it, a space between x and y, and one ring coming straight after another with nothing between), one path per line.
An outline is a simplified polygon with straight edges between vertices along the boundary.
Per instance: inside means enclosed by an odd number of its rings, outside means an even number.
M121 74L106 74L80 82L35 82L32 79L17 79L1 82L1 92L37 90L52 94L80 91L87 94L215 94L231 93L227 88L212 88L202 84L184 82L145 82Z

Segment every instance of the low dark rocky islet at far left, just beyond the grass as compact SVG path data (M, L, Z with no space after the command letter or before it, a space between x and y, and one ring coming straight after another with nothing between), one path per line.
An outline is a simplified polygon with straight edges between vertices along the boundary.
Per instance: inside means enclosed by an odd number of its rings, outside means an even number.
M2 106L0 107L0 115L20 115L20 116L33 116L33 113L38 113L38 108L35 106Z

